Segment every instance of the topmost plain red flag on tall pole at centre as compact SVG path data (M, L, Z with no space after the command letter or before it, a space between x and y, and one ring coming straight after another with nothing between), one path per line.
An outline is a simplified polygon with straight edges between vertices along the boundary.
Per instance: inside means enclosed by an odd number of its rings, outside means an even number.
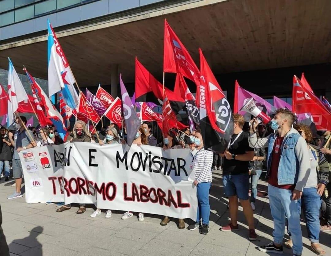
M200 72L190 53L165 20L163 71L180 73L199 86Z

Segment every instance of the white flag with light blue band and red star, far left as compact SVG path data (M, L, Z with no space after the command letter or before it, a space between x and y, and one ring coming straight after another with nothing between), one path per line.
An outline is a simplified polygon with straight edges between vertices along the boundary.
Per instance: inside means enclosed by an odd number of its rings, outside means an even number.
M8 66L8 118L7 127L14 122L14 113L19 108L19 102L28 101L27 94L24 90L22 82L16 73L14 65L10 58Z

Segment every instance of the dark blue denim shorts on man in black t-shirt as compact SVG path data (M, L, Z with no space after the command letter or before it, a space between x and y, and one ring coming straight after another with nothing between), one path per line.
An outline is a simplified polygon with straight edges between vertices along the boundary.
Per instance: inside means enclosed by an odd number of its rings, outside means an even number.
M237 196L241 200L248 200L249 177L248 174L224 175L223 186L225 195L227 197Z

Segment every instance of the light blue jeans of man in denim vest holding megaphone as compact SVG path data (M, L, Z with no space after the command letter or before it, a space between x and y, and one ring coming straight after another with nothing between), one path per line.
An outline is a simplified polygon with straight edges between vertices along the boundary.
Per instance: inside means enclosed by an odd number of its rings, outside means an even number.
M300 216L298 213L298 201L292 200L292 191L288 189L276 188L268 185L268 195L270 210L274 223L273 242L283 243L285 233L285 214L289 222L289 230L292 233L293 254L302 253L302 233L300 226Z

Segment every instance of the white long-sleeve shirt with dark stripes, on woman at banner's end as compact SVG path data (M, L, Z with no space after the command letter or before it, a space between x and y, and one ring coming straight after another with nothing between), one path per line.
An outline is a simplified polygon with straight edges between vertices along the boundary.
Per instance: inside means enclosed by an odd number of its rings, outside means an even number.
M194 152L196 151L196 152ZM212 165L213 165L213 152L204 148L200 150L194 150L192 155L193 159L193 171L195 179L201 182L212 182Z

